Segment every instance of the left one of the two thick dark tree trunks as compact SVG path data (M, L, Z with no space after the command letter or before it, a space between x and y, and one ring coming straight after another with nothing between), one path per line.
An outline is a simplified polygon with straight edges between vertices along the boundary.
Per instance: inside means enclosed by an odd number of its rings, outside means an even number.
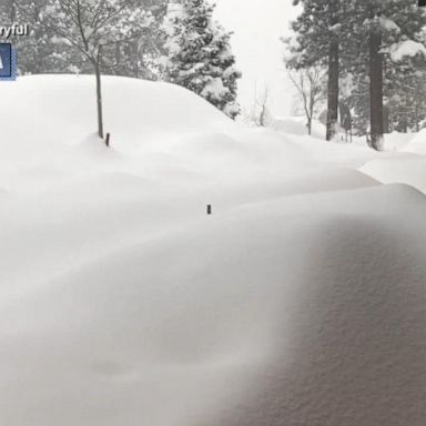
M338 40L333 37L328 53L327 141L336 134L338 119Z

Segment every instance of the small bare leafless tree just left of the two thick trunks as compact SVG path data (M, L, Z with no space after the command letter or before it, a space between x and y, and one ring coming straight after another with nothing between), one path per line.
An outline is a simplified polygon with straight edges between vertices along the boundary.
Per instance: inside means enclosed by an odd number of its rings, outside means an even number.
M316 113L316 106L322 100L324 72L322 68L313 65L304 69L287 69L288 78L296 88L303 103L303 110L307 120L307 133L312 134L312 120Z

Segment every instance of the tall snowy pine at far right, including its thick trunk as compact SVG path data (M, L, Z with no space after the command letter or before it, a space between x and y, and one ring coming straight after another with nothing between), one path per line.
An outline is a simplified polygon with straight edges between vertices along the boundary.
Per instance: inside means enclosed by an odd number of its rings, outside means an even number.
M425 13L409 0L371 0L367 4L356 0L351 8L347 26L355 37L347 44L348 59L353 63L364 62L356 71L368 75L371 145L379 150L384 132L390 126L392 92L399 85L398 80L404 79L392 52L404 40L418 39L426 23ZM409 61L405 59L406 63Z

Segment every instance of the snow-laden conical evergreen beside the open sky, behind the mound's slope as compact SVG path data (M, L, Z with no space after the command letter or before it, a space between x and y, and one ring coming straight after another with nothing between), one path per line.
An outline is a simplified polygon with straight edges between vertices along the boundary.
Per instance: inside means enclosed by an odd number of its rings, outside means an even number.
M241 72L231 50L232 33L213 21L213 10L206 0L184 0L180 13L169 17L165 77L234 119Z

